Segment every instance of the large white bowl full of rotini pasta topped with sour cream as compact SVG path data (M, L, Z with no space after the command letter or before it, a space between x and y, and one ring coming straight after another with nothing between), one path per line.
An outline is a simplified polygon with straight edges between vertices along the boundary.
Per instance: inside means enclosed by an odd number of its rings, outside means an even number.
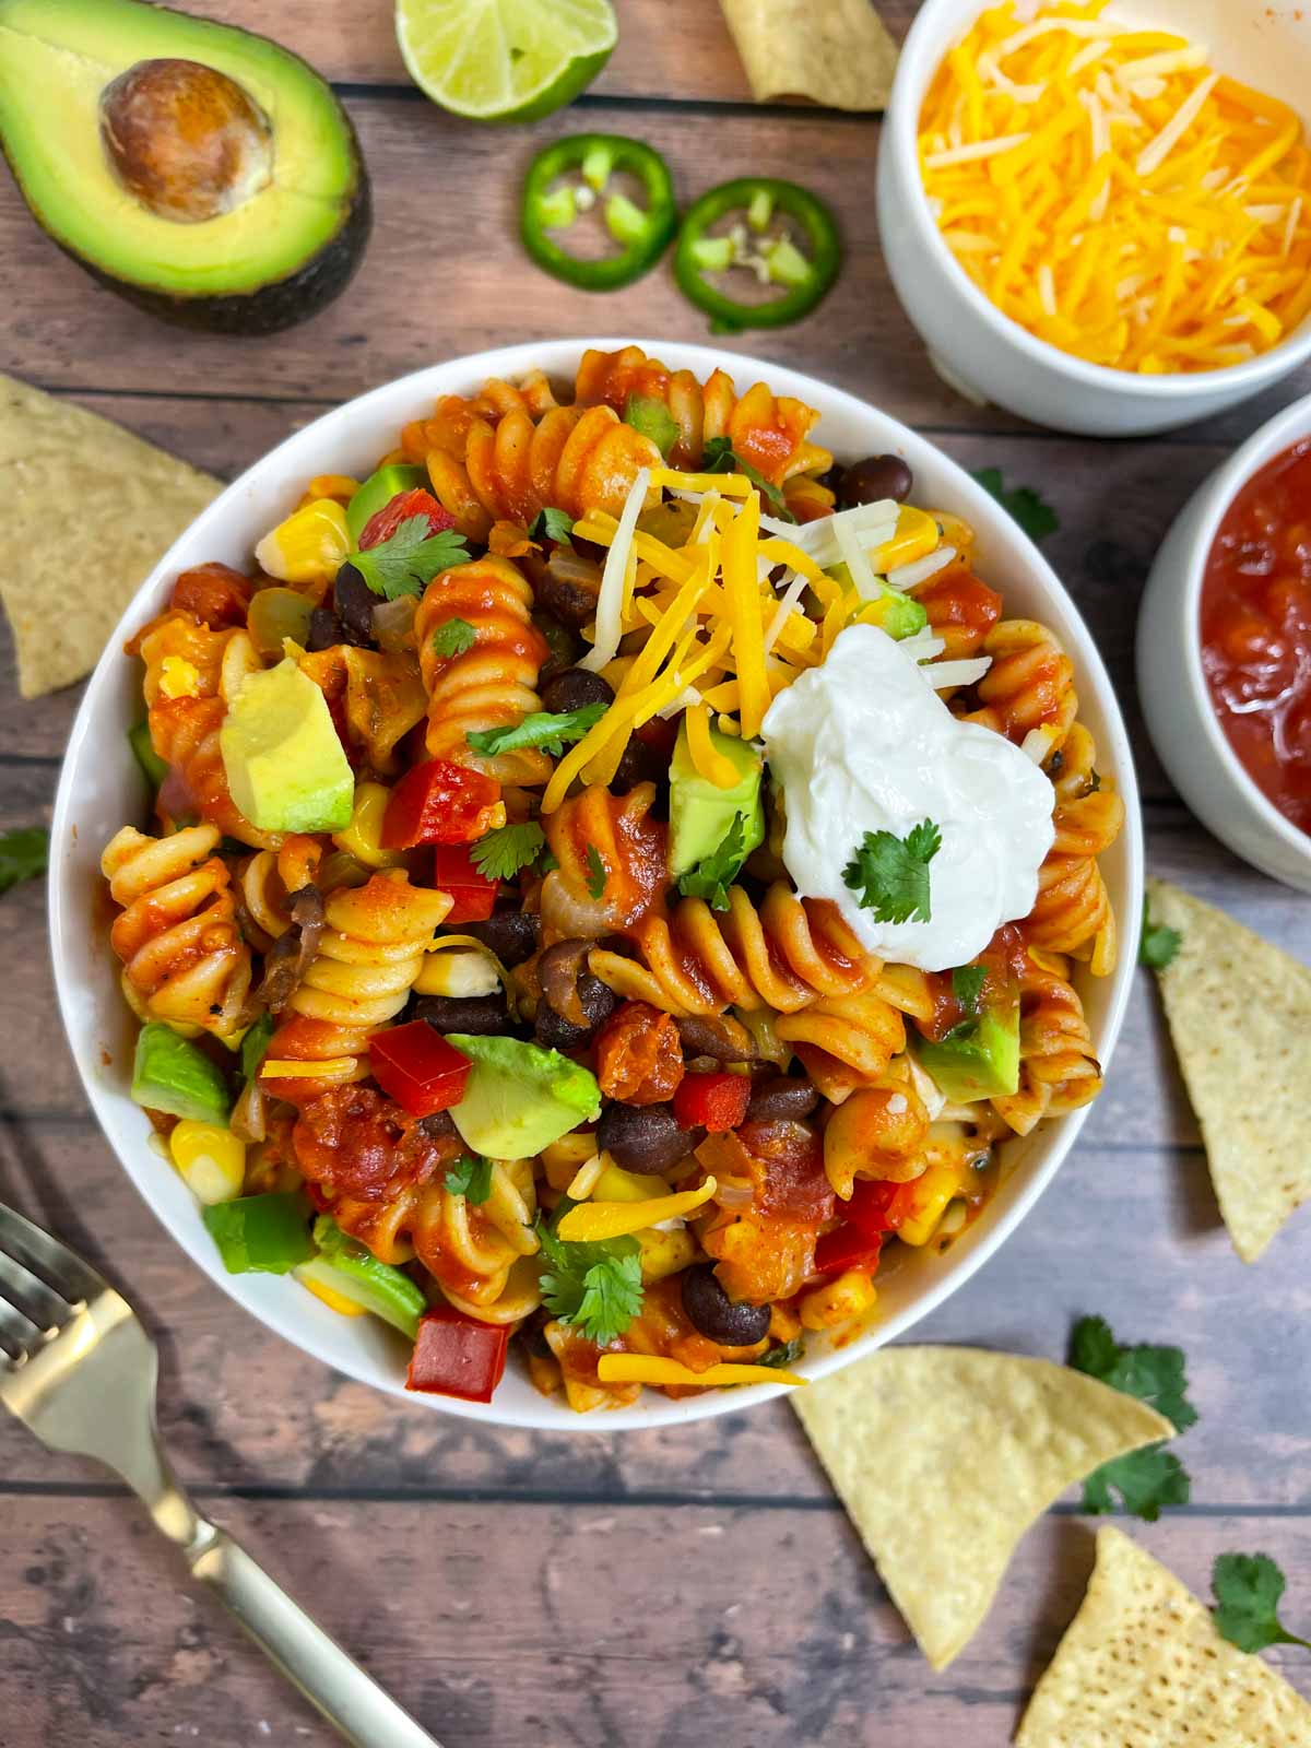
M54 822L73 1049L191 1255L341 1370L720 1412L907 1328L1073 1141L1140 904L1119 710L1005 512L839 390L423 371L121 631Z

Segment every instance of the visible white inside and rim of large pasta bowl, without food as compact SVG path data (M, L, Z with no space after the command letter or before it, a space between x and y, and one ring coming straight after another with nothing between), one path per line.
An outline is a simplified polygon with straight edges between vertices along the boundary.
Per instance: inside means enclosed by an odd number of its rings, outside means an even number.
M489 1404L453 1397L409 1395L404 1390L406 1351L376 1318L343 1318L294 1281L266 1274L227 1274L203 1220L201 1204L180 1175L150 1145L145 1112L129 1098L135 1021L122 1002L119 967L107 937L100 853L124 822L142 818L142 785L126 734L140 713L140 669L122 643L168 601L180 570L210 559L239 568L260 537L294 505L318 474L367 470L395 442L409 420L430 413L446 393L475 393L488 378L519 381L545 371L552 381L573 381L587 346L605 351L631 339L535 341L453 358L386 383L313 425L295 432L220 498L164 554L110 640L73 725L52 822L51 942L56 988L82 1082L124 1171L164 1227L210 1280L238 1306L301 1349L399 1402L489 1425L551 1432L619 1432L729 1414L781 1393L783 1386L753 1384L669 1400L643 1391L640 1402L610 1412L579 1416L561 1397L540 1395L521 1358L514 1358ZM764 381L778 395L795 395L820 413L816 439L841 461L895 453L914 470L916 498L968 521L975 533L974 566L1005 598L1007 617L1038 619L1065 645L1075 666L1080 720L1098 746L1098 767L1124 795L1127 820L1099 865L1120 925L1122 951L1106 977L1082 977L1080 995L1092 1045L1105 1065L1120 1030L1133 981L1133 940L1141 911L1143 851L1133 757L1115 692L1079 612L1047 561L1012 517L968 474L923 437L839 388L757 358L708 346L638 341L669 369L699 379L725 371L739 392ZM904 1335L928 1311L961 1287L998 1250L1056 1176L1084 1124L1087 1108L1038 1124L1007 1141L1005 1180L984 1215L942 1255L916 1253L879 1281L879 1321L855 1339L809 1335L799 1370L818 1379L883 1342ZM234 1323L232 1339L243 1330Z

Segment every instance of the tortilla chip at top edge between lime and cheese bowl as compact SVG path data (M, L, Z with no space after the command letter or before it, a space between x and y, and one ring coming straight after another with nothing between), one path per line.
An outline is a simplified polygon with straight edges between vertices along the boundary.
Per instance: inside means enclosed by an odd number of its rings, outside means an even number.
M897 44L869 0L720 0L757 103L811 98L881 110Z

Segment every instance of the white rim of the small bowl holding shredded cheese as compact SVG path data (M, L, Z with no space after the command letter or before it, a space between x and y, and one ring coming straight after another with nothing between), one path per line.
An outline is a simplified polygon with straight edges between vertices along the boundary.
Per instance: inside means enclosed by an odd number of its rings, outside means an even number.
M998 341L1014 346L1035 364L1058 371L1072 383L1086 388L1122 392L1131 388L1136 395L1155 397L1162 402L1201 399L1217 390L1259 390L1306 364L1311 357L1311 315L1306 315L1288 339L1281 339L1278 346L1271 346L1269 351L1262 351L1255 358L1245 358L1243 364L1222 365L1218 371L1171 371L1164 376L1150 376L1140 371L1113 371L1110 365L1089 364L1087 358L1077 358L1073 353L1052 346L1051 341L1038 339L1037 334L1030 334L1019 322L1003 315L979 290L933 222L933 215L928 210L928 196L925 194L925 182L919 175L919 152L916 145L919 105L928 89L928 80L956 40L954 35L947 35L940 21L940 14L951 3L953 0L925 0L925 5L911 24L897 61L897 73L883 119L879 150L893 150L905 166L905 180L912 191L909 212L921 241L939 269L951 278ZM984 10L984 3L979 3L975 17Z

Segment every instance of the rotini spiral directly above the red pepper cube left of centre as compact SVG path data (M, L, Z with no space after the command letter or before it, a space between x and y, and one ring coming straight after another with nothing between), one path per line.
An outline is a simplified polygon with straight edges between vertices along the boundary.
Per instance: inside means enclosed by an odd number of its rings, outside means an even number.
M332 1063L323 1075L262 1080L294 1105L369 1073L369 1038L400 1012L437 925L444 891L411 886L402 869L334 891L323 905L318 954L269 1040L271 1059Z

